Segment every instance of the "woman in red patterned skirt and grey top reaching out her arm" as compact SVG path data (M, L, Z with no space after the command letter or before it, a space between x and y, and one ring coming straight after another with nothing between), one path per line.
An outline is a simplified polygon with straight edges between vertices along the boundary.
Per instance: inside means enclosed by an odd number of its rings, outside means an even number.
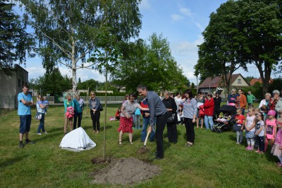
M125 100L121 105L121 119L118 127L118 144L122 144L122 137L124 133L128 133L129 143L133 144L133 113L136 108L140 110L149 110L148 108L141 107L138 102L135 101L135 93L131 93L129 100Z

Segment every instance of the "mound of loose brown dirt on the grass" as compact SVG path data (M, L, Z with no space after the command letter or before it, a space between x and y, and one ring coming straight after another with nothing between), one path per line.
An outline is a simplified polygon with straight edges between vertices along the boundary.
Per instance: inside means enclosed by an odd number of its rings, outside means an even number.
M114 159L106 168L94 172L92 183L133 184L152 178L160 171L156 165L137 158Z

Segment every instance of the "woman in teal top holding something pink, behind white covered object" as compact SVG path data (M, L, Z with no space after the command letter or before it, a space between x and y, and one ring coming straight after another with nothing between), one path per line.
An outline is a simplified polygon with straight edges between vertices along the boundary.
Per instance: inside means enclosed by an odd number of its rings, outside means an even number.
M64 123L64 126L63 126L63 133L67 134L68 124L69 124L69 127L70 127L70 131L73 131L73 115L72 114L74 113L74 107L75 107L70 93L68 93L66 95L66 99L63 101L63 105L65 107L65 123ZM73 107L72 108L73 110L71 110L70 107ZM70 115L68 115L68 114L70 114Z

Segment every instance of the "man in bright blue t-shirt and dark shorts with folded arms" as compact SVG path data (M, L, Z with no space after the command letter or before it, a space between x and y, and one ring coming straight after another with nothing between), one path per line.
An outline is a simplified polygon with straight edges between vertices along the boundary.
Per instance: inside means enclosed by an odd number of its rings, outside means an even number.
M25 134L25 143L35 143L30 141L28 134L30 132L31 124L31 106L33 105L33 100L30 94L28 94L29 87L24 85L23 92L18 93L18 115L20 116L20 148L25 147L23 145L23 134Z

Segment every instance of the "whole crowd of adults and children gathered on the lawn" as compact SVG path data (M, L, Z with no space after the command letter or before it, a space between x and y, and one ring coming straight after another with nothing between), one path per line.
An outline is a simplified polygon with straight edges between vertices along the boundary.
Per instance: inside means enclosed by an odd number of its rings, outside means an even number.
M28 94L28 86L23 86L23 92L18 94L18 115L20 116L20 144L24 147L23 136L25 135L25 143L35 143L29 139L29 131L31 124L31 110L33 105L32 97ZM128 134L129 143L133 144L133 126L135 129L142 129L141 141L145 141L147 131L151 133L149 141L157 141L156 159L164 158L163 149L163 132L166 126L168 141L171 143L178 142L178 124L184 124L186 129L185 146L194 146L195 130L194 128L203 128L213 130L214 122L224 122L231 117L221 117L221 97L220 92L208 93L203 95L201 91L197 95L192 94L192 90L185 90L181 93L169 93L164 91L158 95L154 91L147 90L144 85L137 86L137 93L144 99L137 102L135 93L125 96L120 108L118 108L115 119L119 120L120 124L117 129L118 144L123 144L123 134ZM259 107L255 108L253 102L255 96L248 91L247 96L244 95L242 89L238 89L238 94L235 89L231 90L228 95L227 105L233 106L236 109L234 114L235 123L233 126L236 131L236 143L241 144L243 141L243 131L247 141L246 150L257 153L264 153L266 148L271 143L271 153L276 155L280 162L279 167L282 167L282 98L280 92L274 90L271 93L266 93L264 99L259 103ZM76 95L72 99L71 94L66 95L64 100L64 128L65 134L76 127L81 126L82 112L84 108L84 100L80 95ZM47 134L44 127L44 118L47 114L49 102L46 97L38 95L37 98L37 119L39 126L37 134ZM90 92L89 100L90 114L92 119L93 132L99 133L100 124L99 117L102 111L102 105L99 98L96 97L94 91ZM245 110L247 114L245 115ZM142 128L140 126L140 117L142 115ZM74 121L73 121L74 119ZM224 122L225 123L225 122ZM148 130L147 127L149 126ZM41 133L42 131L42 133Z

